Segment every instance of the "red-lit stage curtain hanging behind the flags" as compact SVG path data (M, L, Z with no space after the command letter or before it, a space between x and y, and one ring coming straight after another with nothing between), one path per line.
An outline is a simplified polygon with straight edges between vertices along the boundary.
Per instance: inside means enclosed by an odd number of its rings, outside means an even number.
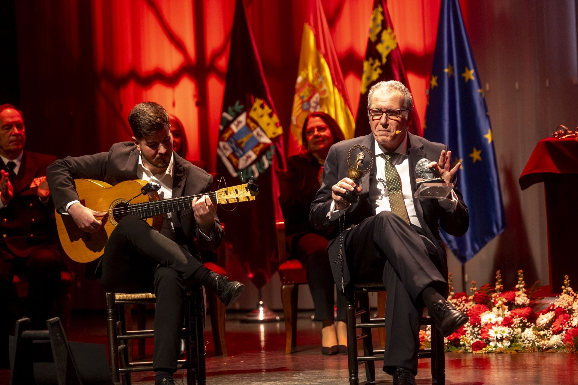
M439 0L387 3L423 121ZM246 5L287 135L307 1ZM372 1L324 0L323 6L357 110ZM234 8L234 0L43 0L35 8L17 2L29 147L60 156L106 151L130 139L131 108L154 100L183 121L188 158L214 170ZM462 9L466 14L465 4Z

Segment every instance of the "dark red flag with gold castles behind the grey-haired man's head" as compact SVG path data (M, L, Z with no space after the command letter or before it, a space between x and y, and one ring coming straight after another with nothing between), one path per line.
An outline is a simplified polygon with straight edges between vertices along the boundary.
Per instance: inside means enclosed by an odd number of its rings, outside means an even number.
M375 0L369 21L369 36L361 74L361 96L355 118L355 136L365 136L371 131L367 115L367 96L372 85L384 80L398 80L409 88L401 49L387 10L387 1ZM423 136L423 128L416 114L413 115L409 125L409 132Z

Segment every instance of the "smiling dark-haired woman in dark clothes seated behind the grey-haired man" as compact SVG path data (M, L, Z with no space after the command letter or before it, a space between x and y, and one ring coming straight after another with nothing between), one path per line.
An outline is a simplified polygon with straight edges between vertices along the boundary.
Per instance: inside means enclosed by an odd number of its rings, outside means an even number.
M315 306L315 317L323 322L321 353L347 354L345 297L337 293L337 327L334 319L334 279L327 243L336 229L315 230L309 223L309 207L323 181L323 164L329 147L343 140L337 122L328 114L312 113L303 123L302 152L287 159L281 178L279 203L285 217L291 259L301 260Z

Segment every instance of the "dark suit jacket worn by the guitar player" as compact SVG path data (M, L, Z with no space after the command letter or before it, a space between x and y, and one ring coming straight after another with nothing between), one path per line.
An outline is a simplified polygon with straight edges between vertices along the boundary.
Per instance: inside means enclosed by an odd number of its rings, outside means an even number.
M121 142L113 144L108 152L79 156L78 158L68 156L64 159L58 159L47 169L54 207L58 210L71 201L78 200L74 188L75 179L95 179L110 185L137 179L136 169L139 163L139 154L140 152L134 143ZM210 174L197 166L193 166L176 152L173 152L173 156L175 157L175 171L172 197L197 195L210 191L210 186L213 184L213 177ZM208 241L202 236L201 230L195 222L192 209L172 215L177 244L183 246L197 259L200 259L199 248L216 249L223 239L223 228L218 218L215 219L212 230L213 237Z

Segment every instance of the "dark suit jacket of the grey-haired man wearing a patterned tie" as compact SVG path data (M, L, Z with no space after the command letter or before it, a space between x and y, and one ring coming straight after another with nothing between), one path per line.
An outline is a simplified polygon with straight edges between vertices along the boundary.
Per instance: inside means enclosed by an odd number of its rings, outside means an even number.
M334 226L337 223L337 218L329 220L327 217L332 202L331 187L344 177L347 177L347 169L350 168L346 159L347 151L355 144L365 145L375 154L375 139L373 138L373 134L341 141L329 149L329 154L325 159L323 168L323 184L311 204L309 214L312 225L317 229L324 229L329 226ZM432 143L422 137L407 133L407 155L409 156L409 176L412 184L412 195L416 192L416 163L422 158L437 161L442 150L447 151L447 146L440 143ZM374 177L375 167L362 177L360 184L363 187L363 191L360 193L359 200L357 203L351 204L346 211L346 229L375 215L375 208L372 207L369 199L369 187ZM464 203L460 191L455 188L454 191L458 197L458 203L455 209L453 208L453 204L448 200L439 201L437 199L417 198L413 200L421 229L423 229L425 236L433 242L438 252L436 256L438 260L434 260L433 263L438 266L443 276L447 276L447 260L442 238L439 235L439 227L441 226L447 233L459 237L466 233L469 226L468 208ZM329 241L328 252L329 259L332 262L336 261L339 253L339 237ZM331 267L333 269L335 282L340 282L341 271L339 264L331 263ZM345 283L349 283L350 274L346 261L344 261L343 266L343 277Z

